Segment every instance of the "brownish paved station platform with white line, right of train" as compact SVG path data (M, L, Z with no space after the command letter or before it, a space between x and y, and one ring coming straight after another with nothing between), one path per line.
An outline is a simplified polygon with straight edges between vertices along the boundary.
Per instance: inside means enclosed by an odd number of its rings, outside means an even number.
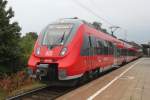
M57 100L150 100L150 58L140 58Z

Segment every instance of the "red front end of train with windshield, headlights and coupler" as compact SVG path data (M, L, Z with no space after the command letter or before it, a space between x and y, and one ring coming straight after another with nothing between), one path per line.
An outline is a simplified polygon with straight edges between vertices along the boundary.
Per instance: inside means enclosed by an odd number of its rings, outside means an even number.
M39 35L28 61L32 77L43 81L68 80L68 68L74 63L69 56L71 41L76 34L73 23L53 23Z

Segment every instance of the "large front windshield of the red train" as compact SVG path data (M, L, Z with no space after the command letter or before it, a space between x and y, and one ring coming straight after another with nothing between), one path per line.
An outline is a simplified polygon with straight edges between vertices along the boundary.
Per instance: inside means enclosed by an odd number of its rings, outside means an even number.
M64 45L69 33L72 29L72 24L51 24L43 32L42 45L57 46Z

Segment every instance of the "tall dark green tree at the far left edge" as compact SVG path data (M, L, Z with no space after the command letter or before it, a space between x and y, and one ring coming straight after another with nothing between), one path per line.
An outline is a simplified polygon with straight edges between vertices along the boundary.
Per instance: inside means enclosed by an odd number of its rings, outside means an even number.
M6 0L0 0L0 71L15 72L20 57L21 28L17 22L11 22L14 12L11 7L6 9L6 5Z

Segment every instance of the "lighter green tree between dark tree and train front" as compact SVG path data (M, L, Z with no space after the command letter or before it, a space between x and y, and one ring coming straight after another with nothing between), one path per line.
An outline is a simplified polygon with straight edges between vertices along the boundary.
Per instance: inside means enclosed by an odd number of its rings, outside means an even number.
M19 43L21 48L20 62L21 65L24 67L26 67L26 64L28 62L29 56L31 55L37 37L37 33L29 32L21 38L21 41Z

